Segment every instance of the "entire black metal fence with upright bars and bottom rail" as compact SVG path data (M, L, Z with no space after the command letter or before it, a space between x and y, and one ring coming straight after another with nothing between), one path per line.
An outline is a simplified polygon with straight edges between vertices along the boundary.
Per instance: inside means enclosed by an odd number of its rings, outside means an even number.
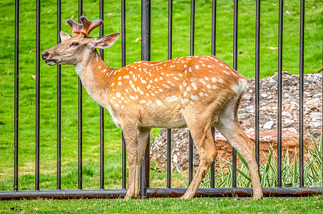
M282 26L283 0L279 1L279 41L278 41L278 116L277 116L277 187L262 188L264 195L300 196L322 194L323 188L304 187L303 170L303 82L304 82L304 0L300 1L300 38L299 38L299 188L282 188ZM56 190L39 189L39 88L40 88L40 0L36 0L36 175L35 190L19 190L19 0L15 5L15 79L14 79L14 190L0 191L0 200L17 198L116 198L126 192L126 154L125 142L122 147L123 180L121 189L104 188L104 124L103 108L100 109L100 189L83 190L82 186L82 83L78 80L78 190L61 190L61 66L57 66L57 188ZM215 55L216 33L216 0L212 1L212 54ZM141 58L150 61L150 0L141 1ZM195 35L195 0L190 4L190 55L194 55ZM83 1L78 1L78 16L83 14ZM233 68L237 69L237 15L238 0L234 1L234 32L233 32ZM100 0L100 19L103 19L103 0ZM173 29L173 1L168 1L168 59L172 58L172 29ZM61 41L61 0L57 1L57 43ZM121 0L121 43L122 66L125 66L125 0ZM259 133L260 133L260 0L256 1L256 29L255 29L255 145L256 160L259 165ZM103 36L103 26L100 29ZM100 51L103 58L103 50ZM214 129L212 130L214 133ZM189 183L193 179L193 139L189 141ZM167 188L150 188L149 186L149 145L145 152L145 160L141 171L140 195L145 197L178 197L185 193L185 188L171 188L171 130L167 131ZM196 196L250 196L252 188L237 188L237 153L232 151L232 188L215 188L215 165L211 165L210 188L198 188Z

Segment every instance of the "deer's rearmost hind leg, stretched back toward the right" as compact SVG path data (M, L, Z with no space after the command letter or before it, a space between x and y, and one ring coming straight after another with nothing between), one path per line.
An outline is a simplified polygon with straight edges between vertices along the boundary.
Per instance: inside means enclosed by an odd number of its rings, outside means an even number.
M227 138L227 141L229 141L231 146L234 147L247 162L252 181L253 198L261 199L262 189L255 159L255 143L247 137L240 127L237 119L238 105L239 100L228 103L219 115L218 121L215 123L215 128Z

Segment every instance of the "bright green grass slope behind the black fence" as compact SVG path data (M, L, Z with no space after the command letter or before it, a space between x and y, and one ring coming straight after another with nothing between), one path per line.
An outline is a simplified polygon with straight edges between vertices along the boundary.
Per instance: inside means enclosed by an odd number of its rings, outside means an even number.
M196 2L195 54L211 53L212 1ZM152 2L152 61L167 59L168 3ZM179 0L173 6L173 58L190 53L190 1ZM289 15L286 11L289 11ZM98 1L84 1L88 19L98 19ZM322 66L323 2L306 1L305 73ZM0 190L13 190L14 175L14 1L0 1L2 29L0 40ZM121 31L121 2L109 1L104 8L104 32ZM62 30L71 34L66 19L77 20L78 1L62 3ZM262 1L260 35L260 73L262 77L277 71L277 1ZM19 28L19 190L34 189L35 171L35 58L36 1L20 2ZM232 66L233 4L217 1L216 54ZM98 29L91 36L98 36ZM126 63L140 60L140 1L126 1ZM299 2L284 1L283 69L298 73ZM41 1L41 48L56 44L56 1ZM237 70L251 78L255 73L255 2L240 1ZM104 52L104 60L121 67L121 40ZM56 66L41 62L40 181L41 189L56 188ZM78 158L78 78L73 66L62 66L62 189L77 188ZM320 86L319 86L320 87ZM153 131L153 136L158 129ZM106 111L105 186L121 188L121 129L117 129ZM99 106L83 90L83 188L99 186ZM153 170L152 183L165 187L165 172ZM182 175L173 173L173 186L183 185Z

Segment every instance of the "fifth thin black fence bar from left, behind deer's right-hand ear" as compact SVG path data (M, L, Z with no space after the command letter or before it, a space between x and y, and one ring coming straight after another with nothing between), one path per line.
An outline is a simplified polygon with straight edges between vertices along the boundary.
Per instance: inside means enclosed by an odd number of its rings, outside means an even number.
M103 0L100 0L100 19L103 20ZM103 24L100 26L100 36L103 36ZM103 60L103 49L100 49ZM100 189L104 189L104 108L100 106Z

